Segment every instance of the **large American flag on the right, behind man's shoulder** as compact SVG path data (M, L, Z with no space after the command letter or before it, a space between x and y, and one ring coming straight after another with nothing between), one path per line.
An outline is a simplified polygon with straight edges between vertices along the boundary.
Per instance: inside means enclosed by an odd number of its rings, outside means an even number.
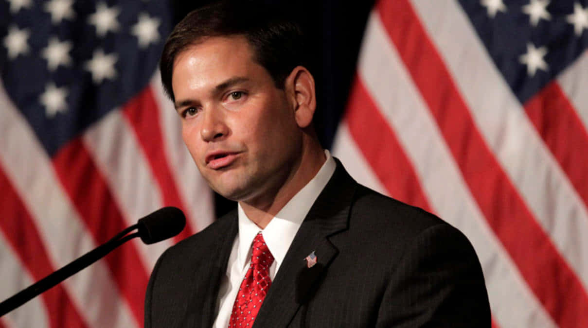
M334 153L464 232L495 327L588 327L588 1L380 0Z

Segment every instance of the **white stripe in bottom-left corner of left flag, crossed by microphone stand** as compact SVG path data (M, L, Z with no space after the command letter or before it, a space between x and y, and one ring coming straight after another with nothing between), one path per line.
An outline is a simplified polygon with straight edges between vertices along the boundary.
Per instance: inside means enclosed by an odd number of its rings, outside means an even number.
M12 247L5 242L0 233L0 267L2 267L2 283L0 283L0 300L20 292L30 286L34 280L24 269ZM49 327L49 318L41 297L26 302L21 307L2 317L6 324L14 327Z

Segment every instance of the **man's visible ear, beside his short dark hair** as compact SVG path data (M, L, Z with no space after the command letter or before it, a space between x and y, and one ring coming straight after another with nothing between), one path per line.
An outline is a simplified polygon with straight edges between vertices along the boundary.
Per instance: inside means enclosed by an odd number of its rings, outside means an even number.
M286 78L286 83L286 88L290 89L296 123L300 128L306 128L312 123L316 110L315 79L308 69L296 66Z

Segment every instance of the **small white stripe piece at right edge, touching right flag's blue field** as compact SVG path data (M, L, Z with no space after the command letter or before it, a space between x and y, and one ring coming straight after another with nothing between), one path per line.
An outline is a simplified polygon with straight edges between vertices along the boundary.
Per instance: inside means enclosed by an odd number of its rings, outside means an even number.
M572 65L563 71L557 82L562 87L567 99L572 102L576 113L584 123L584 130L588 130L588 51L576 59Z

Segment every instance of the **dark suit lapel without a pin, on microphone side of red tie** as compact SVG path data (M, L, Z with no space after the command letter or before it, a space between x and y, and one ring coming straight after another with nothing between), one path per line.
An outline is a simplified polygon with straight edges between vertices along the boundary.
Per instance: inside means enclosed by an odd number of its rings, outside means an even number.
M222 227L216 229L219 233L212 241L212 247L209 250L199 250L208 252L208 256L199 261L194 268L194 277L196 279L205 279L195 281L191 292L191 304L185 316L185 322L182 327L212 327L215 320L216 300L218 299L221 279L226 275L226 267L229 261L230 251L233 241L238 232L237 212L230 212L223 217ZM188 287L188 286L186 286ZM201 292L197 292L201 290ZM203 293L202 293L203 292Z

